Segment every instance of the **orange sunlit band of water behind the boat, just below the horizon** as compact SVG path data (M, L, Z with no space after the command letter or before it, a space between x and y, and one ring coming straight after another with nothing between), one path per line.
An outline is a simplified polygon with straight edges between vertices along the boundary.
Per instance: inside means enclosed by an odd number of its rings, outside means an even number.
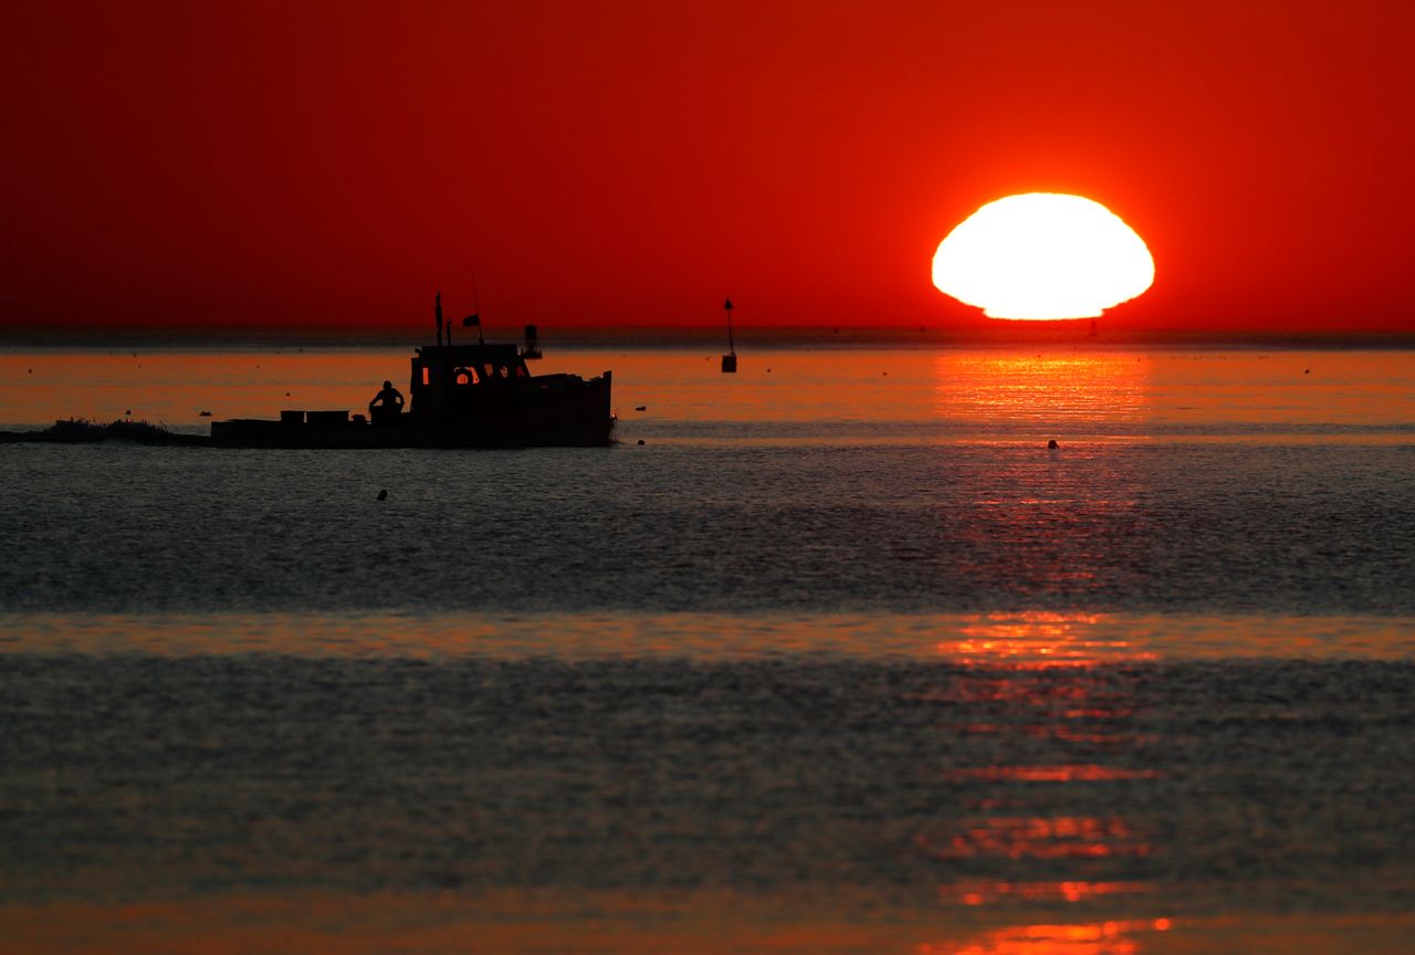
M1184 429L1214 440L1312 440L1310 426L1408 422L1415 354L1399 351L1150 351L1104 344L969 349L766 349L730 382L692 349L562 349L541 372L614 369L625 437L638 423L940 423L947 440L1077 434L1148 437ZM0 427L64 417L136 420L204 432L214 417L282 407L361 410L379 382L408 374L403 349L307 352L44 351L0 354ZM710 368L709 368L710 369ZM644 412L638 412L638 406ZM1030 432L1019 433L1019 429ZM657 440L706 440L672 430ZM845 427L855 443L904 439ZM756 436L734 436L734 440ZM1363 441L1408 434L1357 434ZM1320 440L1347 440L1340 430Z

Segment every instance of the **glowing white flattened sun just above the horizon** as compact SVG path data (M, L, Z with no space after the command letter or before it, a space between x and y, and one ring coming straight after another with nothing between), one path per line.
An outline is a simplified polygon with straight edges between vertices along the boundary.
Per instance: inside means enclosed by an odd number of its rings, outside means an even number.
M938 290L990 318L1095 318L1153 282L1155 259L1135 229L1060 192L989 202L934 253Z

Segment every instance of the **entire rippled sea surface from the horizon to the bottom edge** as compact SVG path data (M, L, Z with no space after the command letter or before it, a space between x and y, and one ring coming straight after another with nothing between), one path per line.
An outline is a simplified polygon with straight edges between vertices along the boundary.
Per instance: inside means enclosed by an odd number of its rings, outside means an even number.
M1415 354L543 365L617 446L0 446L0 951L1408 951Z

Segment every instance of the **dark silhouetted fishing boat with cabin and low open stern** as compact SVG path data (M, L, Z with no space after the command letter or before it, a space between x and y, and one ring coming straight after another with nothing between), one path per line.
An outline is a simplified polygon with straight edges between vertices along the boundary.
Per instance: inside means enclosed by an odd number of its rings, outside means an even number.
M475 344L443 341L415 349L409 399L385 382L368 416L348 410L282 410L279 420L212 422L211 443L224 447L533 447L603 446L613 440L613 372L532 375L514 344L487 342L480 317Z

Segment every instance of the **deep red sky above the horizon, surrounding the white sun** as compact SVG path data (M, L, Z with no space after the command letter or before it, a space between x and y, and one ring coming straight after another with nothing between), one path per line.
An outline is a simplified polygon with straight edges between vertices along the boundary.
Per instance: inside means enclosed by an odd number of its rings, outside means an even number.
M1136 328L1415 331L1415 4L6 4L0 324L974 321L1012 192Z

